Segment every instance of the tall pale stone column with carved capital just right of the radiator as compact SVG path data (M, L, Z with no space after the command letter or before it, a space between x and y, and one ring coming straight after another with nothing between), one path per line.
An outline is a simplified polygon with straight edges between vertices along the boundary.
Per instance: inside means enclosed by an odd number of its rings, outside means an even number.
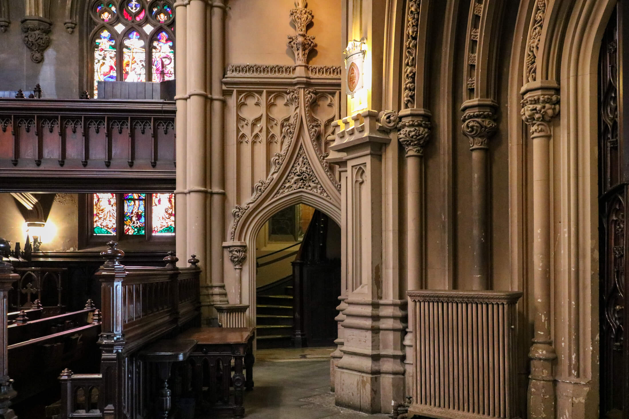
M522 119L530 126L533 145L533 345L528 357L528 417L555 417L553 361L557 357L550 336L550 140L552 118L559 114L559 86L541 81L525 85L521 93Z

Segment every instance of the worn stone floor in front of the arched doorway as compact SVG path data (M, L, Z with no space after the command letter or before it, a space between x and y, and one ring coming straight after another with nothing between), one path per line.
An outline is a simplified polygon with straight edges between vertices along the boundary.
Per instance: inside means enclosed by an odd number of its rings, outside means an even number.
M253 367L255 388L245 393L246 419L386 419L340 408L330 392L333 348L264 349Z

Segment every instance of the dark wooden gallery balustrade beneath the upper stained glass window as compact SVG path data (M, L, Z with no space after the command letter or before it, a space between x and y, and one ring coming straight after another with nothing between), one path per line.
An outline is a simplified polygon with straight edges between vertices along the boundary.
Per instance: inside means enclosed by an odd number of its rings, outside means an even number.
M0 177L174 179L174 124L170 101L0 98Z

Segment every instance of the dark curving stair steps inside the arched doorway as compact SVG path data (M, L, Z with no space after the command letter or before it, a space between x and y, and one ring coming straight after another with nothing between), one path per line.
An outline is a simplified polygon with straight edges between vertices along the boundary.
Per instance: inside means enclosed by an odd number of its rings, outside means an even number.
M292 275L257 291L256 337L258 347L291 347L293 323Z

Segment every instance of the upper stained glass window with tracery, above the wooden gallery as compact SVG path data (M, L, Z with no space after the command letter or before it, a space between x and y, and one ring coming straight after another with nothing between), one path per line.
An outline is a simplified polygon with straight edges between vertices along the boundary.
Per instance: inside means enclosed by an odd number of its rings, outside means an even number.
M92 0L97 82L162 82L175 78L174 0Z

